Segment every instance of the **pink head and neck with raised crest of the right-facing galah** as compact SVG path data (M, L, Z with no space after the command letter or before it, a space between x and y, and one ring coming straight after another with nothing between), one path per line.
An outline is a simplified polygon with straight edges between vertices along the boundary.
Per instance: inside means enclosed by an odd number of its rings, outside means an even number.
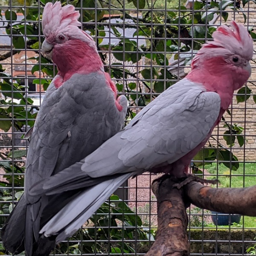
M221 97L223 109L232 100L234 90L241 88L251 74L252 38L242 24L221 25L213 33L214 41L202 46L192 61L187 78L203 83L208 91Z

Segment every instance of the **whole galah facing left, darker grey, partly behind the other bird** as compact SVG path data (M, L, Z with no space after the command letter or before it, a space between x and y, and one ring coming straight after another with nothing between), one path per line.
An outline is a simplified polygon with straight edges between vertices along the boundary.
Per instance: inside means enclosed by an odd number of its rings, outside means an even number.
M8 251L27 256L48 255L51 244L39 238L39 231L71 199L81 195L72 191L65 200L42 197L30 205L28 192L36 182L48 178L80 161L121 130L127 99L117 98L117 89L105 73L95 42L77 26L75 7L47 3L42 15L45 40L42 54L51 57L58 74L44 96L37 115L27 154L24 196L1 231ZM43 205L54 205L45 214ZM59 207L59 208L58 208ZM55 212L56 211L56 212Z

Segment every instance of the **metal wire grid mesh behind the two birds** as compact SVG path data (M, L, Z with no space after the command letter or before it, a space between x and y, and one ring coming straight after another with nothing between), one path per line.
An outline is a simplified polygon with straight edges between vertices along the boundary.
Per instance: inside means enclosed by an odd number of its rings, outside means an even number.
M38 47L43 37L40 18L35 17L42 14L45 2L0 0L1 225L23 190L25 154L9 152L27 149L28 142L21 136L33 124L44 89L56 74L55 66L40 56ZM213 28L226 23L226 18L227 21L233 18L253 31L256 17L256 3L244 0L188 0L186 3L91 0L88 4L67 0L66 3L74 4L80 11L83 30L95 37L106 71L117 83L119 94L129 98L127 121L172 82L185 77L191 58L210 38ZM190 23L185 21L188 17ZM17 26L22 27L12 29ZM222 185L243 187L256 182L255 82L256 69L252 62L249 89L238 92L229 109L230 115L226 113L225 120L214 130L210 144L202 151L203 157L192 164L193 170L197 170L196 165L204 177L217 177ZM22 86L24 92L19 91ZM210 155L210 149L217 152L215 158ZM235 156L230 153L226 156L224 149ZM237 171L232 170L236 168ZM155 175L146 173L126 183L117 194L130 209L124 205L119 208L119 198L112 197L111 204L106 204L94 216L95 226L92 219L75 237L61 244L55 254L144 255L154 241L157 224L155 196L150 190L154 178ZM254 245L254 218L242 217L239 224L232 226L214 226L210 220L214 214L209 211L191 206L188 213L191 255L245 255L246 249ZM2 247L0 250L6 253Z

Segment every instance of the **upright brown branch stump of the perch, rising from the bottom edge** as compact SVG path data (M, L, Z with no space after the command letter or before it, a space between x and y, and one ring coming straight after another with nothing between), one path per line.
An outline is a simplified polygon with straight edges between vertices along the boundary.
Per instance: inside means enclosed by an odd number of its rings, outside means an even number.
M170 177L164 175L152 183L157 198L158 229L155 243L146 256L188 256L190 245L187 237L188 217L183 191L172 189Z

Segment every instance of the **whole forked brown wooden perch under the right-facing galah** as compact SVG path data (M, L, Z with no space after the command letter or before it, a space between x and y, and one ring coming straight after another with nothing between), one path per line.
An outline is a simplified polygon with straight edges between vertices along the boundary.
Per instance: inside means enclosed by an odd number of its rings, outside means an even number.
M195 206L224 214L256 216L256 186L212 188L191 181L181 189L167 174L155 179L152 191L157 199L158 228L155 243L145 256L189 256L186 208Z

